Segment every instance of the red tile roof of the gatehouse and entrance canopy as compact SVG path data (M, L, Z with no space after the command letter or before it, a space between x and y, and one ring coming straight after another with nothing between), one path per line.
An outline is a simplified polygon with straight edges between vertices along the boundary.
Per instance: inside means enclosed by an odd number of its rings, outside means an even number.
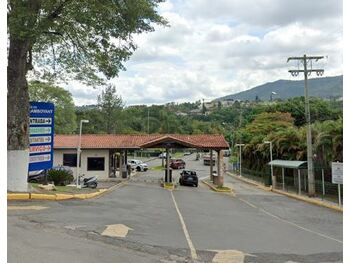
M78 146L78 135L55 135L55 149L73 149ZM81 148L85 149L138 149L155 147L164 142L175 142L184 147L203 149L228 149L223 135L200 134L155 134L155 135L112 135L87 134L81 137Z

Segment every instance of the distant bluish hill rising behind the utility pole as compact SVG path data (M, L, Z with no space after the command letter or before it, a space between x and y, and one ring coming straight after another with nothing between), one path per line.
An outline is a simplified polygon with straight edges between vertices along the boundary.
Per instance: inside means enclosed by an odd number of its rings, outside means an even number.
M343 75L335 77L315 78L308 81L309 95L319 98L343 97ZM274 98L287 99L304 96L304 80L277 80L268 82L252 89L216 99L218 100L250 100L256 98L269 100L271 92L276 92Z

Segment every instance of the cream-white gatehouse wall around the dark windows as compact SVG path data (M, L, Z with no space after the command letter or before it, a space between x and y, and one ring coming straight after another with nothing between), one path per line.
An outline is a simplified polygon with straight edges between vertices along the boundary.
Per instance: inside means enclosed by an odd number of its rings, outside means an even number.
M56 165L63 165L63 154L64 153L71 153L71 154L77 154L77 150L61 150L61 149L55 149L54 150L54 159L53 163L54 166ZM87 158L88 157L104 157L105 158L105 168L104 171L88 171L87 170ZM76 176L76 167L71 167L73 170L74 177ZM108 178L108 171L109 171L109 150L104 149L94 149L94 150L82 150L81 151L81 168L80 168L80 174L85 174L85 177L89 176L96 176L98 179L107 179Z

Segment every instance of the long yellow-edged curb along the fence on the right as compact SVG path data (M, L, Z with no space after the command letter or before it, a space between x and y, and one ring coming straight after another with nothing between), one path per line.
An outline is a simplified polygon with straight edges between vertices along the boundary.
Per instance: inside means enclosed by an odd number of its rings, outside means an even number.
M242 178L242 177L239 177L237 175L234 175L232 173L226 173L228 176L231 176L235 179L238 179L238 180L241 180L243 182L246 182L248 184L252 184L264 191L267 191L267 192L274 192L274 193L277 193L277 194L281 194L281 195L285 195L285 196L288 196L290 198L293 198L293 199L296 199L296 200L299 200L299 201L304 201L304 202L307 202L307 203L310 203L310 204L313 204L313 205L318 205L318 206L322 206L322 207L326 207L326 208L329 208L329 209L333 209L337 212L343 212L343 208L342 207L339 207L337 205L331 205L331 204L328 204L328 203L325 203L325 202L322 202L322 201L319 201L319 200L316 200L316 199L311 199L309 197L305 197L305 196L300 196L300 195L296 195L296 194L291 194L291 193L287 193L287 192L284 192L284 191L281 191L281 190L277 190L277 189L272 189L270 187L266 187L266 186L262 186L256 182L253 182L251 180L248 180L246 178Z

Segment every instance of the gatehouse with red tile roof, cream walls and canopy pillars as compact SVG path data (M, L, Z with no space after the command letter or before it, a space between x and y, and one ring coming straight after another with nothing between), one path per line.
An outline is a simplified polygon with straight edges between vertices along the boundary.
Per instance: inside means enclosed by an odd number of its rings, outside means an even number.
M76 162L69 164L69 160L76 157L78 135L56 135L54 145L55 165L68 165L76 174ZM99 180L115 178L117 175L126 178L128 172L128 152L145 148L163 148L166 150L166 170L164 181L172 182L169 152L171 149L191 148L210 152L213 159L213 151L216 152L215 165L210 163L210 178L214 184L223 185L224 161L223 151L229 149L229 144L223 135L218 134L83 134L81 136L81 169L80 172L87 176L97 176ZM97 162L98 167L92 167L90 162ZM216 175L213 176L213 168L216 166Z

